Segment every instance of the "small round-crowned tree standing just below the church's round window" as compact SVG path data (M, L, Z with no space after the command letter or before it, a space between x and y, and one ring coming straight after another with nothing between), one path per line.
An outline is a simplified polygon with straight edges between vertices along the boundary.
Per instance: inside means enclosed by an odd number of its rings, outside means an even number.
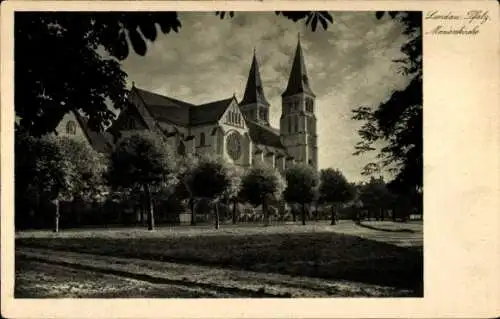
M239 181L231 164L222 158L205 156L187 174L187 186L195 198L205 198L215 208L215 229L219 229L219 200L236 192Z

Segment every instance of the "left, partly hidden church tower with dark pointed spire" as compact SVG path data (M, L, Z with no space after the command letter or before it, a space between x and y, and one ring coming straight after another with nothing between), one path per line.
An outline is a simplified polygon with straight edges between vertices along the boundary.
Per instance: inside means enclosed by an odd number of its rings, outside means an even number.
M269 125L269 102L264 95L255 49L240 109L247 119Z

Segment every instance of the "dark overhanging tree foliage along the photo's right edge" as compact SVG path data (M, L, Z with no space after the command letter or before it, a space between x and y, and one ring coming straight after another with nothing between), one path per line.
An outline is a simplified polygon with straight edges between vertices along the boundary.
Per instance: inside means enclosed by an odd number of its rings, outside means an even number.
M385 12L377 12L381 19ZM422 140L422 13L389 12L389 18L399 21L408 35L408 42L401 51L405 58L401 72L410 78L406 88L394 92L377 107L359 107L353 110L353 119L362 121L355 146L355 155L375 151L377 143L384 143L378 153L379 161L365 166L363 173L372 175L386 168L394 173L390 187L400 192L422 190L423 140Z

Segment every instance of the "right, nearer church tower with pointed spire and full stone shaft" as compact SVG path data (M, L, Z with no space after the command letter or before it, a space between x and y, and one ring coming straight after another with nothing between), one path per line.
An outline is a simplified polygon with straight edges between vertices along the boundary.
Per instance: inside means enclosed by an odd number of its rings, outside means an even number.
M316 95L309 86L300 38L288 85L281 98L280 135L283 145L296 162L309 164L318 169Z

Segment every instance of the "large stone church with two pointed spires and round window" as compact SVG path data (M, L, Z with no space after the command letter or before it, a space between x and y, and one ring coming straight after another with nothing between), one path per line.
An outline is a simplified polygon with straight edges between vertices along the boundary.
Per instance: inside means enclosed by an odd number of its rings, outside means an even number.
M244 168L263 162L281 172L293 163L318 167L315 95L300 39L282 94L279 128L269 123L272 106L264 95L255 51L240 102L233 95L194 105L135 85L129 102L109 129L116 141L137 130L153 130L179 155L214 153Z

